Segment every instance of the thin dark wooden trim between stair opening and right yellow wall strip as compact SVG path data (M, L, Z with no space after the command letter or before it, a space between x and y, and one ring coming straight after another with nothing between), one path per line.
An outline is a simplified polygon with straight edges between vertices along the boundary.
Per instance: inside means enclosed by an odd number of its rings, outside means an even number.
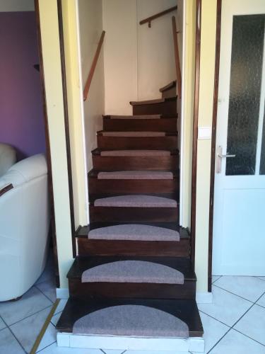
M199 81L200 81L200 57L201 57L201 0L196 0L196 49L195 49L195 84L194 84L194 120L192 143L192 215L191 234L192 262L195 261L195 237L196 237L196 181L197 181L197 139L199 119Z

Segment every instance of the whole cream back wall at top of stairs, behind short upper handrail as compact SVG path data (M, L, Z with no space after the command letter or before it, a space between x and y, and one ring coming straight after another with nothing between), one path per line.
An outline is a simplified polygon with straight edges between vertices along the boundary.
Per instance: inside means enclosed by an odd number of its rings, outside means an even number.
M175 6L177 1L102 2L103 27L106 30L105 113L131 114L129 101L160 97L160 87L176 77L171 17L177 13L156 19L151 28L148 24L139 25L139 21ZM182 26L178 23L181 17L177 16L178 28ZM180 33L180 47L181 37ZM181 52L179 55L182 57Z

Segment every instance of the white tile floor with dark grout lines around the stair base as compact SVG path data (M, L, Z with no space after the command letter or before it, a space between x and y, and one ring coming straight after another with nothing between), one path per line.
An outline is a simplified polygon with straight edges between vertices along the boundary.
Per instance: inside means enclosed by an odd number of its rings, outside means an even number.
M52 259L35 285L17 302L0 303L0 353L29 353L52 304L55 284ZM58 348L55 325L66 300L61 300L37 353L145 354L131 350ZM213 277L213 303L199 304L206 352L265 354L265 277ZM148 353L151 354L151 353ZM154 353L165 354L165 353Z

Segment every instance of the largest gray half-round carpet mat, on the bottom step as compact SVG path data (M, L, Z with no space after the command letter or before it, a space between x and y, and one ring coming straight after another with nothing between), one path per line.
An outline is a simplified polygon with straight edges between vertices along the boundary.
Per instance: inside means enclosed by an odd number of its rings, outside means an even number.
M160 309L119 305L100 309L73 324L73 334L188 338L184 321Z

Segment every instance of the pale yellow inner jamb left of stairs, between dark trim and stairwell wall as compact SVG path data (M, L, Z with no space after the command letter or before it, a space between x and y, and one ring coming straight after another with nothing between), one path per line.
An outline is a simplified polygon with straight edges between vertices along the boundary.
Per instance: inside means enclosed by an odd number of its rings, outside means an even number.
M66 68L71 167L73 178L73 205L75 227L87 224L86 217L86 159L83 139L83 85L79 71L78 24L76 1L62 0L64 23L64 57Z

